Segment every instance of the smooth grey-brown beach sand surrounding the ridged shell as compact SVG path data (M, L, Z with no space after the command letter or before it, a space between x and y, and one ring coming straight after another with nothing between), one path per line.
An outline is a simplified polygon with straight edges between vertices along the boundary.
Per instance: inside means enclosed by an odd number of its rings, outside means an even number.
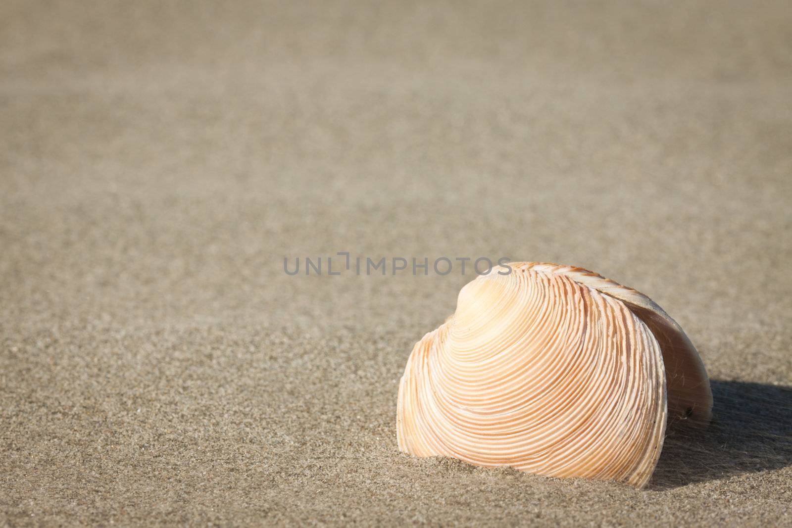
M0 524L790 526L789 2L0 2ZM508 256L638 288L716 424L653 483L398 453Z

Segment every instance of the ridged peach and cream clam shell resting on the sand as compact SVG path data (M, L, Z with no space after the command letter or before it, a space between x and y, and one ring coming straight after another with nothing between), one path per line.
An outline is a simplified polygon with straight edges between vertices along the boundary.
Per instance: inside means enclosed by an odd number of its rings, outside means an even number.
M695 347L632 288L572 266L508 267L466 284L413 348L399 450L643 487L669 419L710 422Z

